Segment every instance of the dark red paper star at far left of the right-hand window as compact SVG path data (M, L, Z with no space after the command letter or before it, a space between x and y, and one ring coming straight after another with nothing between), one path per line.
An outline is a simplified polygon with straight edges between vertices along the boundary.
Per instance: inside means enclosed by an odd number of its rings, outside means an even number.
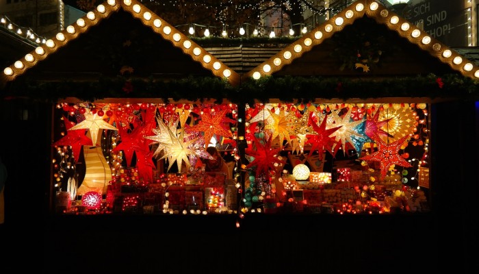
M252 166L256 166L256 174L260 175L262 173L268 173L268 171L274 171L276 166L274 163L277 164L285 164L284 161L279 160L276 157L276 154L279 153L281 149L272 149L271 148L271 140L264 142L264 145L259 142L259 140L255 139L255 145L253 149L245 149L245 153L255 158L253 162L250 162L246 168L250 168Z

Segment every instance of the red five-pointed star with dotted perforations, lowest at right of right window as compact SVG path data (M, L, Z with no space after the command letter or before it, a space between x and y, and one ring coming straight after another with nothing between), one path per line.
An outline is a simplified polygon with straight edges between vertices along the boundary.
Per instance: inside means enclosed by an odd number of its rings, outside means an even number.
M381 175L386 175L389 170L389 166L396 164L398 166L411 167L411 164L404 160L401 155L398 154L398 151L404 141L406 141L410 136L406 135L396 142L391 142L386 144L379 138L379 136L374 136L374 142L378 145L378 150L370 155L365 155L361 157L361 160L370 160L374 162L380 162Z

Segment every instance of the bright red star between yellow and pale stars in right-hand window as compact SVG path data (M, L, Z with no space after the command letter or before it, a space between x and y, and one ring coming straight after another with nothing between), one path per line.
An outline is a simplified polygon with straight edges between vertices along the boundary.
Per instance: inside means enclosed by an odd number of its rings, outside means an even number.
M333 132L337 131L341 125L339 127L331 127L330 129L326 129L326 121L328 120L327 114L319 126L316 124L313 116L311 116L311 119L313 119L313 123L311 124L313 125L313 129L316 134L308 134L305 145L311 144L311 153L315 150L318 150L320 154L320 160L322 160L322 151L324 149L333 154L333 145L337 143L337 141L329 136L333 134Z

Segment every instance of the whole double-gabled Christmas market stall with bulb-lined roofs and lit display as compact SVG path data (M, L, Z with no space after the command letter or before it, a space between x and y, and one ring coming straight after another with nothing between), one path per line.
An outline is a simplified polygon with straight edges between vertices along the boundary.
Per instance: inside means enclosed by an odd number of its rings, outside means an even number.
M68 60L68 64L65 64ZM431 105L479 70L357 1L239 75L137 1L107 1L3 71L52 101L57 214L429 212ZM206 172L216 147L231 179Z

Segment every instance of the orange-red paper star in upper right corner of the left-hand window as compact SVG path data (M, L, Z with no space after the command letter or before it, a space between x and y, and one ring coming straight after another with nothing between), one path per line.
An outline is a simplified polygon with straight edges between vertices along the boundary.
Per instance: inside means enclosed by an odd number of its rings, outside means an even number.
M194 125L186 129L187 132L205 132L205 143L209 144L209 140L214 134L217 136L224 136L231 138L233 133L229 128L226 128L224 122L226 121L224 116L227 110L222 110L217 114L203 114L198 125Z

